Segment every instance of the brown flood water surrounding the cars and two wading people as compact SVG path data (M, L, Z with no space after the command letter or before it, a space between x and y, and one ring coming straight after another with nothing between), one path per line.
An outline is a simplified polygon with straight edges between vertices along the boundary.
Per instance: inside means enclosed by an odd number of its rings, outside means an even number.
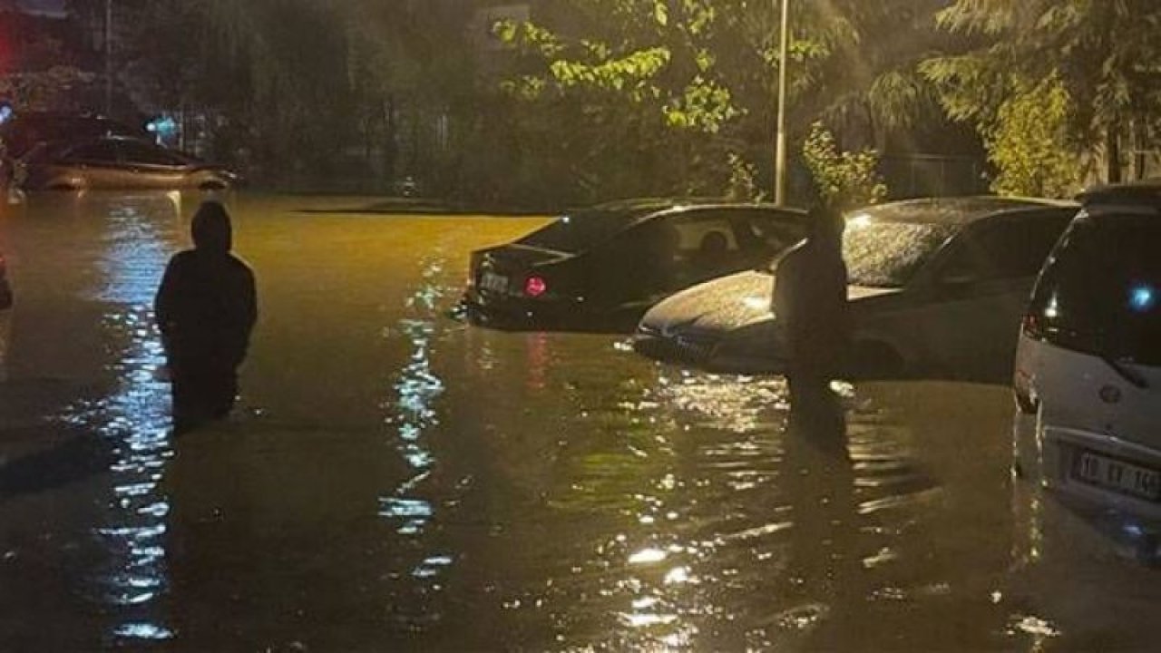
M228 198L260 320L233 417L175 438L151 304L196 201L0 216L0 650L1155 645L1159 572L1043 561L1070 547L1014 488L1005 388L792 411L623 336L450 317L468 252L541 218Z

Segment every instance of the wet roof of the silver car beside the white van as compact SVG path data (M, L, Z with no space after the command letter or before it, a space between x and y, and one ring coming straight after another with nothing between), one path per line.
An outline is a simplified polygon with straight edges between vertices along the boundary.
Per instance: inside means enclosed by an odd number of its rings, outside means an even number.
M1079 203L1068 200L1001 198L996 195L923 198L864 207L848 213L848 218L865 216L881 222L964 227L997 215L1017 215L1036 209L1076 209L1079 206Z

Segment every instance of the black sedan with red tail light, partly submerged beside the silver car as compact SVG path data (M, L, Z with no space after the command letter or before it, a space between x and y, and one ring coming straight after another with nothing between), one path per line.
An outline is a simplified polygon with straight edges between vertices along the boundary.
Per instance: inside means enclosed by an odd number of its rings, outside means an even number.
M666 295L769 263L802 238L803 221L767 204L599 204L473 252L464 304L496 326L632 330Z

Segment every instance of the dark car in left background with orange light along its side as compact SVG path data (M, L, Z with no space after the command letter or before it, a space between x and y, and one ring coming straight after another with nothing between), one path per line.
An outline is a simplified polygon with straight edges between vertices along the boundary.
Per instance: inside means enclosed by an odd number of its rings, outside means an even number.
M140 138L101 136L42 143L22 164L31 191L200 188L221 191L239 179L229 170Z

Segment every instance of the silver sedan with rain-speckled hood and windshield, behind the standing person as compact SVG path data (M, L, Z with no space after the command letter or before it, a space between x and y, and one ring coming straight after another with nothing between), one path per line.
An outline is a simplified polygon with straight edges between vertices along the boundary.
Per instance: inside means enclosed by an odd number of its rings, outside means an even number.
M1036 274L1076 210L1073 202L978 196L848 214L852 346L844 373L1005 378ZM683 290L644 315L634 349L711 371L784 373L773 285L773 272L760 270Z

